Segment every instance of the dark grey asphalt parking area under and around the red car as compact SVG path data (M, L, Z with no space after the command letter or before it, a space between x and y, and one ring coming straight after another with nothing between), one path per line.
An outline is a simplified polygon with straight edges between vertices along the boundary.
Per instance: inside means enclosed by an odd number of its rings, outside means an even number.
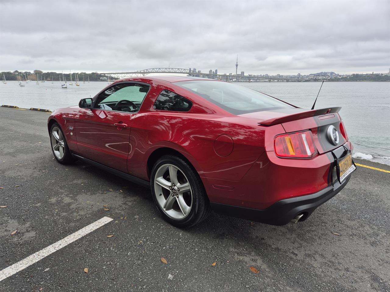
M178 229L150 190L81 162L58 164L48 116L0 107L0 271L112 221L0 281L0 291L390 291L390 173L358 167L295 225L212 213Z

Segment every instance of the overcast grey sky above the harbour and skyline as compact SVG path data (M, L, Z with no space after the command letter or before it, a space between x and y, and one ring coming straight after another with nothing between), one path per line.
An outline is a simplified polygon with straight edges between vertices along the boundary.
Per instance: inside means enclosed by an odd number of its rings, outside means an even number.
M386 73L390 1L0 2L0 70Z

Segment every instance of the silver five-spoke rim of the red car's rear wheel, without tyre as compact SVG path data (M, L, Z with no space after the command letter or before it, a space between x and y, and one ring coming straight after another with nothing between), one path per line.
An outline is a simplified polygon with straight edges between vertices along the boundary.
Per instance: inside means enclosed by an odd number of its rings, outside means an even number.
M170 218L181 220L190 214L192 189L176 165L163 164L158 168L154 176L154 193L161 209Z

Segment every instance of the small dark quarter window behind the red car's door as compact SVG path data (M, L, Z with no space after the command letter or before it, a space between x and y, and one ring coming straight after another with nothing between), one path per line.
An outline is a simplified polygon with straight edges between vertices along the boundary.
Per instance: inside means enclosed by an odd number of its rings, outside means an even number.
M163 90L154 102L153 108L161 111L189 111L191 106L190 100L172 91Z

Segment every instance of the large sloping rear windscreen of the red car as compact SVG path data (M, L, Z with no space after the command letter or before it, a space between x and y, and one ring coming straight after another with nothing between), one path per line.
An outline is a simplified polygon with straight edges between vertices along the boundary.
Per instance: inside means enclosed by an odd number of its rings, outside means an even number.
M175 84L232 114L246 114L285 107L293 108L293 106L268 95L228 82L191 80L180 81Z

